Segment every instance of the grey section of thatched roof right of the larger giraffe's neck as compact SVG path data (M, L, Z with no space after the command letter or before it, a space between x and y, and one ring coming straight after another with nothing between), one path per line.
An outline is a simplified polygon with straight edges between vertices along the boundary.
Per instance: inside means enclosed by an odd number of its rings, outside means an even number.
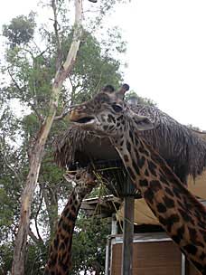
M133 109L157 126L154 130L141 132L141 135L174 168L176 174L201 175L206 167L203 134L192 131L156 107L137 104Z

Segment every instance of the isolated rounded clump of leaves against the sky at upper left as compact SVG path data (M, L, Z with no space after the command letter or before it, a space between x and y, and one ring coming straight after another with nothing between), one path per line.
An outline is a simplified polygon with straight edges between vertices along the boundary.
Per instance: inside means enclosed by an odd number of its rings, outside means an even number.
M35 21L33 13L28 16L20 15L12 19L10 24L3 25L3 35L9 40L12 48L26 44L33 39Z

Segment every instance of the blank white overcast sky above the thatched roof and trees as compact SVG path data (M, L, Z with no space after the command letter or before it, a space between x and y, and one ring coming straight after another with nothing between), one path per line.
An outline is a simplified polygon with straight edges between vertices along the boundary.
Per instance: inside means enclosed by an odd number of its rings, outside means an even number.
M4 1L0 24L35 10L37 2ZM206 129L205 14L205 0L132 0L109 16L128 43L125 81L131 89L201 129Z

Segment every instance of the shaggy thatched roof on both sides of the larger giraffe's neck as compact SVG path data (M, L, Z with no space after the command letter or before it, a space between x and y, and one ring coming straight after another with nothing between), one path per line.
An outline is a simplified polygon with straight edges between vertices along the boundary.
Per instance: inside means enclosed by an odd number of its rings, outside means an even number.
M131 105L136 113L149 117L156 128L141 132L175 173L184 180L185 175L200 175L206 166L206 142L191 129L178 123L163 111L144 105ZM120 164L117 151L108 137L96 137L89 131L71 125L57 138L55 160L59 166L88 166L94 162ZM183 176L181 176L183 175Z

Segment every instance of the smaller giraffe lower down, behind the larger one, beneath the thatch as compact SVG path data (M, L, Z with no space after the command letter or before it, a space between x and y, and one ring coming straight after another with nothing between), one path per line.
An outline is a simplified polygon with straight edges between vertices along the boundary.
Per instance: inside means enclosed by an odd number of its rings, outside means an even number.
M49 258L44 270L45 275L68 275L71 270L71 244L75 222L84 197L96 185L96 180L86 169L79 169L73 175L67 172L64 177L73 181L69 200L65 205L50 247Z

